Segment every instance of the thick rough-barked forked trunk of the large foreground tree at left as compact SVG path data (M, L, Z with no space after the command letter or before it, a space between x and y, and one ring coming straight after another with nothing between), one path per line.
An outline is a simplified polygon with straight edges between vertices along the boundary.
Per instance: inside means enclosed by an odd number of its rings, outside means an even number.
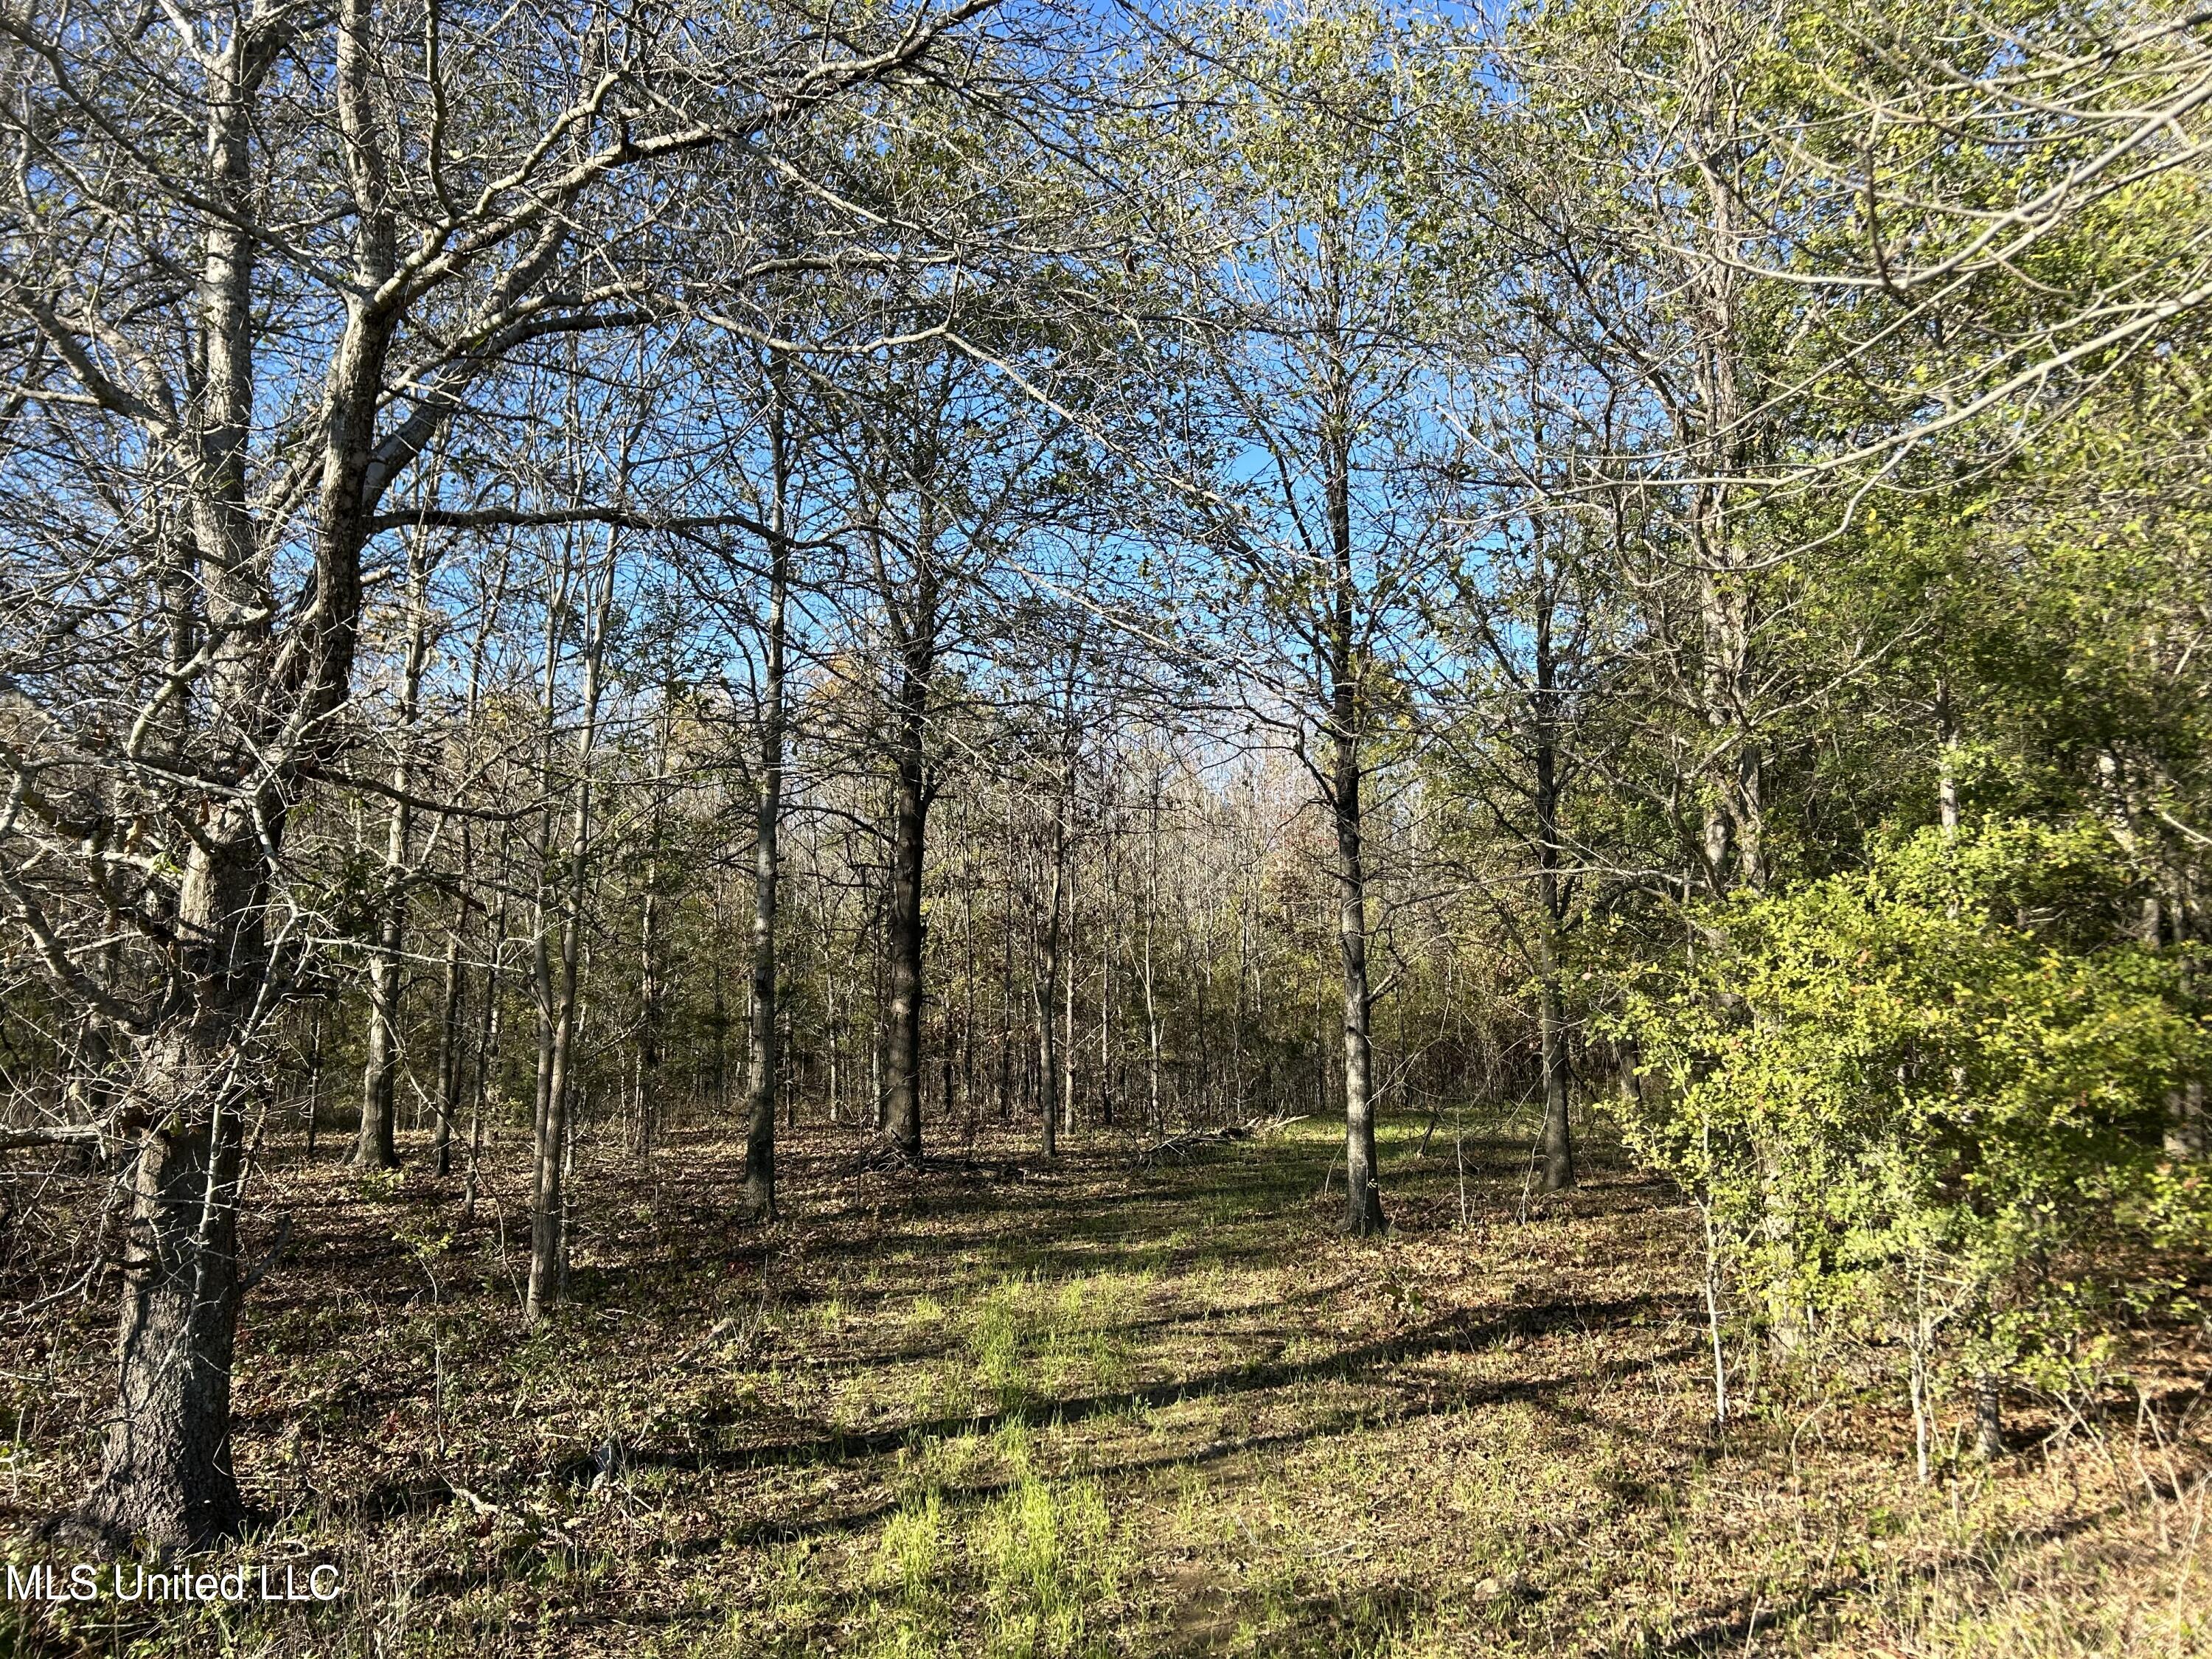
M252 97L274 62L272 20L239 22L208 75L208 215L197 429L186 440L190 524L206 595L210 752L239 790L208 807L175 907L184 1009L139 1051L146 1113L131 1192L117 1387L102 1471L80 1520L113 1537L206 1544L239 1531L230 1467L230 1356L239 1325L239 1108L265 1013L268 856L283 841L299 763L352 681L361 617L365 478L389 316L349 307L325 387L314 504L314 606L272 650L276 606L246 493L254 416L254 248L248 226ZM380 153L369 128L365 0L338 15L338 117L354 144L356 268L389 268Z

